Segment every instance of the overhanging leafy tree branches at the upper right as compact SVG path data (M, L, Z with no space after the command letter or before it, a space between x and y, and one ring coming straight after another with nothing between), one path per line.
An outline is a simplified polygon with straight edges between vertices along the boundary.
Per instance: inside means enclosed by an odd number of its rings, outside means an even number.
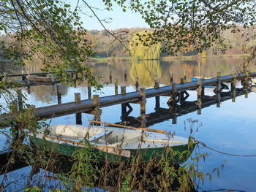
M108 9L112 9L113 1L102 1ZM129 8L139 12L154 28L154 33L148 34L151 43L161 42L161 51L170 55L186 52L191 45L202 52L217 44L225 52L227 45L222 36L225 30L231 29L236 33L240 31L237 26L255 27L255 0L114 1L124 11ZM256 34L249 34L249 37L255 39ZM252 47L251 53L247 63L255 58L256 46Z

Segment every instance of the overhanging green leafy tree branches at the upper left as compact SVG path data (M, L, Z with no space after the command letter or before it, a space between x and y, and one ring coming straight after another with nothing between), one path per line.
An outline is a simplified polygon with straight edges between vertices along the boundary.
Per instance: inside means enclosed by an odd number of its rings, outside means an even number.
M91 85L99 87L97 77L87 58L94 55L86 30L69 4L54 0L3 0L0 2L0 31L12 37L1 41L0 53L16 64L24 64L37 55L44 64L43 71L56 72L60 80L68 80L67 69L80 74Z

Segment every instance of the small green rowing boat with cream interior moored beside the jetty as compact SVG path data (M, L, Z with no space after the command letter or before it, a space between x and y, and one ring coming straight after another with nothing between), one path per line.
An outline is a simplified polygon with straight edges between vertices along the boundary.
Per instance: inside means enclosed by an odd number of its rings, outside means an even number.
M182 164L195 147L194 144L188 145L188 139L184 137L127 128L61 124L50 126L48 136L44 132L45 129L42 129L38 134L31 134L37 147L44 144L48 151L54 150L59 155L71 157L75 150L88 147L84 139L87 138L94 154L91 159L105 161L107 157L112 163L131 162L132 158L140 157L140 162L170 158L173 164ZM175 154L173 158L171 153Z

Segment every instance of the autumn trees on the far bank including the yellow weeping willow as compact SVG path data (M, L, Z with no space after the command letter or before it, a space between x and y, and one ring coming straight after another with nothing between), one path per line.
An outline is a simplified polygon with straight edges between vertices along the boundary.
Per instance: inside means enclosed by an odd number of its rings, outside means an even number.
M231 30L223 32L223 36L227 38L225 43L228 47L225 51L225 56L245 55L246 51L256 44L255 39L250 39L249 42L246 41L250 37L250 34L252 34L252 31L249 32L241 26L238 26L238 28L240 29L238 33L233 33ZM86 39L88 39L87 43L94 50L94 58L105 58L106 60L111 58L151 60L168 57L167 54L161 53L160 43L151 45L150 38L147 37L148 34L153 32L151 28L119 28L111 32L121 39L121 42L116 40L115 37L110 36L104 30L88 31ZM0 35L0 41L8 42L10 38L4 34ZM222 47L216 45L211 47L211 49L204 50L203 53L197 53L193 50L193 47L189 47L185 53L177 53L177 57L192 56L206 58L214 55L223 56Z

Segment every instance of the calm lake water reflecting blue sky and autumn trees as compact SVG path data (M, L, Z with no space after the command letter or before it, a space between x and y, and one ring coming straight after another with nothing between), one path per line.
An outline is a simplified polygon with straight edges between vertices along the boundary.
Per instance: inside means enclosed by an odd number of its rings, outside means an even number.
M173 72L174 81L180 82L183 77L184 70L187 72L187 80L193 76L205 74L206 77L216 77L217 72L222 75L230 74L232 70L237 71L239 64L243 58L203 58L199 60L180 60L172 61L118 61L112 63L95 63L93 70L102 77L102 82L106 85L101 92L96 92L100 96L108 96L115 93L113 83L110 83L110 71L112 81L118 78L118 93L120 86L127 86L127 93L135 91L135 77L139 76L140 85L151 88L154 85L154 75L157 74L160 86L170 85L170 72ZM40 66L27 65L20 71L37 72ZM20 73L15 69L12 73ZM124 80L124 71L127 70L127 80ZM256 72L254 65L250 66L252 72ZM239 83L237 84L239 85ZM27 94L28 103L34 104L36 107L42 107L52 104L58 104L55 85L39 85L30 88L28 94L27 88L22 89ZM187 101L195 101L197 93L188 91L189 98ZM62 103L74 101L74 93L81 93L81 99L87 99L87 85L83 82L76 88L69 85L61 85ZM93 94L96 94L93 92ZM206 88L206 95L213 96L211 88ZM160 97L160 107L168 108L166 102L169 98ZM3 103L1 99L1 103ZM135 118L140 116L140 106L131 104L133 111L129 116ZM154 112L155 99L147 99L146 114ZM250 92L248 98L238 96L236 102L231 99L223 101L220 107L216 104L203 108L201 114L197 115L197 111L187 115L181 115L177 118L177 123L173 124L173 119L166 119L160 123L155 123L149 128L155 128L166 131L176 131L176 135L187 137L187 131L184 130L184 122L189 126L188 119L198 120L202 123L195 134L195 138L225 153L238 155L255 155L256 154L256 93ZM83 125L88 125L92 115L83 114ZM101 120L108 123L116 123L121 121L121 105L102 108ZM75 114L66 115L59 118L53 118L51 124L70 123L75 124ZM3 139L2 139L3 142ZM208 148L202 147L201 152L208 152L210 155L206 161L200 161L200 170L203 172L211 172L214 168L221 168L225 164L224 169L220 169L219 177L217 172L213 174L211 182L206 177L205 183L200 183L198 191L214 191L222 189L235 191L256 191L256 157L239 157L224 155L217 153ZM22 174L24 171L16 171ZM12 174L13 175L13 174Z

